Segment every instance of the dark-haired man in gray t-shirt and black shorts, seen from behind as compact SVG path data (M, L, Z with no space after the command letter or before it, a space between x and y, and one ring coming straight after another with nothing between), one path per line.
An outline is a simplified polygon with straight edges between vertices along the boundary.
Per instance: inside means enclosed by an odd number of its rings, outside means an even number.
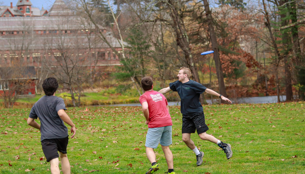
M60 173L58 159L60 157L62 172L70 174L70 163L67 157L69 135L64 122L71 126L71 133L73 133L71 138L76 133L75 125L65 112L66 106L63 99L55 96L58 88L57 80L54 77L47 78L43 81L42 87L46 95L34 104L27 123L41 132L42 150L47 162L50 161L51 173ZM37 118L41 125L35 121Z

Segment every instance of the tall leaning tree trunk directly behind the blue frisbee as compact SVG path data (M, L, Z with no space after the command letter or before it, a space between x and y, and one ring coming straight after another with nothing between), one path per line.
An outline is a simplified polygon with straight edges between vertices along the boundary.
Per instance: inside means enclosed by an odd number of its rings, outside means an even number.
M206 18L207 18L207 21L208 21L208 26L209 26L209 33L210 33L210 38L211 38L211 43L212 43L212 50L214 51L213 58L214 58L214 61L215 61L217 79L218 79L218 84L219 84L219 92L224 97L228 97L227 92L226 92L226 87L224 85L224 74L222 72L222 67L221 67L221 63L220 63L217 38L216 38L215 30L214 30L212 13L211 13L210 8L209 8L208 0L203 0L203 4L205 6L205 15L206 15ZM221 100L221 103L225 103L225 101Z

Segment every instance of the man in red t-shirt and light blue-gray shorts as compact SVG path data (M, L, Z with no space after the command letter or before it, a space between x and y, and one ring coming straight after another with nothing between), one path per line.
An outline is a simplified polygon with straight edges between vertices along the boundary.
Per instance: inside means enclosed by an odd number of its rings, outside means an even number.
M153 149L160 145L165 155L168 165L168 174L176 174L174 172L173 154L169 149L171 145L171 116L166 98L163 94L153 91L152 78L143 77L141 80L142 88L145 93L139 98L142 105L148 131L146 135L146 155L152 167L145 174L151 174L159 170L159 165L156 163L156 155Z

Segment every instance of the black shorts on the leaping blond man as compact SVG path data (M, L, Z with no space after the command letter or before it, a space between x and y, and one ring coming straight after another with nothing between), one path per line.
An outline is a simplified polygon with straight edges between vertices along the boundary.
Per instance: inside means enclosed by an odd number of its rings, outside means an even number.
M195 133L196 129L198 134L209 130L208 126L205 124L203 111L193 115L182 114L182 133Z

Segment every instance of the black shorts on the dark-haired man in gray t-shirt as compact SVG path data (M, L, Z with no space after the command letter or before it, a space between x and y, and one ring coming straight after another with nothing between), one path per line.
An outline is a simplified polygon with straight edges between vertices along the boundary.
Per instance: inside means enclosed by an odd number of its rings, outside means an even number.
M44 139L41 141L42 151L47 159L47 162L54 158L58 158L58 152L63 154L67 153L69 138L55 138L55 139Z

